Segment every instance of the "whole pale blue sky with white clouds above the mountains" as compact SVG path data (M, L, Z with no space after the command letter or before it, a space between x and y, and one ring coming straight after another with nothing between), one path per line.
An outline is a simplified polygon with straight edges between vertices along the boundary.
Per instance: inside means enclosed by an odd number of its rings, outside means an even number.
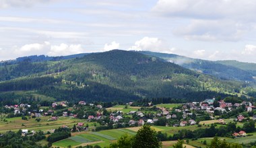
M0 61L113 49L256 63L255 0L0 0Z

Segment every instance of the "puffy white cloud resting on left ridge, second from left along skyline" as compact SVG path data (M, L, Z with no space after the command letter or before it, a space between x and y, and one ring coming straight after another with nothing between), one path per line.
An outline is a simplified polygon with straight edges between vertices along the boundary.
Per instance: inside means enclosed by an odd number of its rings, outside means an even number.
M60 44L51 46L51 50L48 52L50 56L60 56L69 54L78 54L84 52L81 44Z

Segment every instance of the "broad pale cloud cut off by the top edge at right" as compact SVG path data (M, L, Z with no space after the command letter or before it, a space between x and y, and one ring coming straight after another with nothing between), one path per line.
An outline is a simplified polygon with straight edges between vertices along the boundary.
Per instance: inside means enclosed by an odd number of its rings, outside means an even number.
M158 0L153 11L172 17L255 20L254 0Z

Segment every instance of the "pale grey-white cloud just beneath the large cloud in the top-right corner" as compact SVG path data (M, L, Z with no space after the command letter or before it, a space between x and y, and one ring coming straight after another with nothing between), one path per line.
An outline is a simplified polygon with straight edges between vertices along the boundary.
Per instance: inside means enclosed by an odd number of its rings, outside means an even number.
M187 40L202 41L237 41L249 32L250 28L243 24L227 20L193 20L187 26L181 26L173 30L177 36L183 36Z

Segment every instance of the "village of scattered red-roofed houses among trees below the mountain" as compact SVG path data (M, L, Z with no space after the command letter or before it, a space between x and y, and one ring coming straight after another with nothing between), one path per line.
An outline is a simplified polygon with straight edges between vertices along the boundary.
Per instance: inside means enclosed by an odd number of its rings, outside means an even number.
M125 128L151 124L156 126L201 126L205 120L213 120L217 124L226 124L224 118L232 118L233 122L256 120L255 106L251 102L225 102L216 98L203 102L189 102L176 104L173 108L161 107L149 102L147 106L133 106L133 102L123 104L121 108L115 106L104 108L100 104L87 104L84 101L69 105L68 102L53 102L51 106L37 106L30 104L5 105L5 116L11 118L21 116L23 120L34 118L40 123L40 118L47 117L48 122L58 121L59 118L79 118L84 122L75 122L73 126L62 124L62 128L71 128L72 132L100 131L112 128ZM123 107L123 108L122 108ZM237 112L237 110L240 110ZM230 114L234 112L236 114ZM3 116L3 112L1 113ZM89 128L90 122L93 122ZM214 123L213 122L213 123ZM53 133L55 129L47 129L45 133ZM33 135L36 130L22 128L23 135ZM247 136L245 131L232 134L234 137Z

